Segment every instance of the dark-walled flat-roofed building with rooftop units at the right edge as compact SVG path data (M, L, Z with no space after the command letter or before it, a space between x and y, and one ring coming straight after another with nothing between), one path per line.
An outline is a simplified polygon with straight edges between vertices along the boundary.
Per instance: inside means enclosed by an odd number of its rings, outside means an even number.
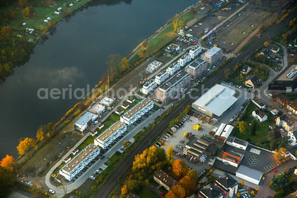
M297 88L297 65L289 65L269 84L268 89L292 92Z

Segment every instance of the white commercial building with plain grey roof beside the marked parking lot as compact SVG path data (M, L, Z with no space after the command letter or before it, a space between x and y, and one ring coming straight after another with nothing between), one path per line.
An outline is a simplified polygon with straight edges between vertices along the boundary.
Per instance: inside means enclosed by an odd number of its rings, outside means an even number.
M263 172L249 168L242 164L239 166L236 172L236 177L247 180L256 185L258 185L260 183L260 180L262 180L262 175L263 175Z

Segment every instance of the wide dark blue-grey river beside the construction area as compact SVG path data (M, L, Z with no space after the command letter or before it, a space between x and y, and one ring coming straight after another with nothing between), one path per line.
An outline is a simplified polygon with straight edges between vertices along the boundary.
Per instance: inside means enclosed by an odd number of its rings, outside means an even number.
M79 100L37 97L40 88L94 87L107 69L109 54L127 56L144 39L182 12L193 0L94 0L68 18L14 75L0 85L0 159L18 157L21 137L58 121ZM44 93L44 92L42 92ZM79 93L78 93L79 95Z

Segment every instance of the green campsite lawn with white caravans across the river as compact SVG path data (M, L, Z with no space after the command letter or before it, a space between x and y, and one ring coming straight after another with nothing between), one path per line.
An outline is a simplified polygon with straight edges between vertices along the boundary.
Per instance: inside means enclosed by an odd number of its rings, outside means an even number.
M9 14L10 10L17 12L17 18L7 20L5 23L2 22L0 28L4 25L12 26L16 31L25 33L26 28L32 28L36 30L40 30L41 26L48 27L49 24L44 22L47 17L50 15L54 16L51 20L51 23L54 24L55 22L61 20L63 17L65 17L67 14L71 13L72 11L78 9L82 5L86 4L90 0L82 0L82 1L72 1L72 0L55 0L55 1L43 1L45 3L45 6L37 6L40 4L40 0L35 1L29 1L28 6L32 6L35 10L35 15L30 15L30 17L24 17L22 14L23 7L19 7L18 4L11 5L11 6L3 6L1 7L1 10L3 10L4 15ZM56 2L57 5L52 5L52 2ZM73 2L73 6L63 6L63 3L67 3L69 5ZM57 9L61 7L63 12L61 12L59 15L54 15L54 12L57 11ZM0 20L5 21L4 16L0 15ZM21 25L22 23L26 23L25 26ZM35 35L34 35L35 36Z

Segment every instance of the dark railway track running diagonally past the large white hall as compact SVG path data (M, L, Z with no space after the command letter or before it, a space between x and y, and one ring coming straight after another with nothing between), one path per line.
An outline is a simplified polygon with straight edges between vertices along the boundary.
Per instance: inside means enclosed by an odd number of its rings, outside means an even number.
M242 52L236 58L228 63L222 70L220 70L215 76L212 76L208 79L206 84L204 84L205 88L210 88L214 84L216 84L223 76L224 70L227 68L232 69L238 62L244 60L250 53L255 51L260 45L262 45L269 37L271 37L274 33L278 32L282 29L288 21L292 20L297 15L297 10L290 13L290 15L281 23L277 24L276 26L272 27L265 36L258 39L255 43L253 43L246 51ZM200 86L198 89L201 88ZM191 95L193 97L199 97L201 95L201 91L192 91ZM99 188L97 194L94 196L96 198L107 198L110 192L118 183L118 180L124 176L124 174L132 167L132 163L134 161L134 157L137 154L140 154L150 146L151 141L154 141L161 133L164 131L169 122L173 120L173 118L177 117L178 114L187 106L191 105L196 99L187 98L183 100L180 106L165 117L156 127L143 139L142 142L139 142L138 145L131 150L129 155L121 162L119 167L112 173L112 175L102 184L102 187Z

